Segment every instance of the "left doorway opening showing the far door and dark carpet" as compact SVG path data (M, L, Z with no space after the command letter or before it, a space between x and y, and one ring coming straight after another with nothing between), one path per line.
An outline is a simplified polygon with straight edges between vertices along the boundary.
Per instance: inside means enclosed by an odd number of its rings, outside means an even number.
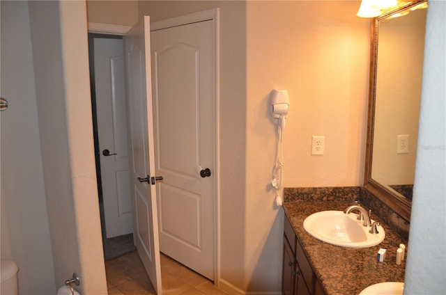
M122 35L89 33L95 166L105 260L136 250L128 188L127 128L125 109L122 110L125 108L122 39ZM106 67L102 74L96 65Z

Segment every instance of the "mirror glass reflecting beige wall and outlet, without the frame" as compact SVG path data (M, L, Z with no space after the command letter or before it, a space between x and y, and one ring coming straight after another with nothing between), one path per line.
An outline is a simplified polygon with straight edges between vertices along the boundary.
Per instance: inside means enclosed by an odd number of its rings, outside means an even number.
M371 179L411 201L426 9L398 15L378 19Z

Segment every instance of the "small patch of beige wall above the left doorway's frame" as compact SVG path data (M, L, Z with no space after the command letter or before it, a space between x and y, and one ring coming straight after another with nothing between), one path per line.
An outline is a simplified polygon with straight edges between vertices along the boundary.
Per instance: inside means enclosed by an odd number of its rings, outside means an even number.
M127 1L86 1L88 22L133 26L138 22L138 2Z

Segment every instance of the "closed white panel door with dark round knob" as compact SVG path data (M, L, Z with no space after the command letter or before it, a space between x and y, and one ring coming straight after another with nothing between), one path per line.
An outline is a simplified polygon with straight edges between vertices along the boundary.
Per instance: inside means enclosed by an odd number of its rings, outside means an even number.
M214 23L157 29L151 40L160 249L214 280Z

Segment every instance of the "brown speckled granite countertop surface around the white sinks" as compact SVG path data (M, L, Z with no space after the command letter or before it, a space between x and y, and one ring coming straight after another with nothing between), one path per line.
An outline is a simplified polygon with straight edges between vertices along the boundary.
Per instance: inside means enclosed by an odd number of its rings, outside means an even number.
M285 202L283 206L325 294L354 295L378 282L403 282L406 257L400 265L395 264L395 260L399 244L407 246L407 242L392 232L373 212L371 218L383 226L385 239L369 248L333 246L312 237L303 228L307 216L324 210L344 210L349 205L352 203L347 201L295 201ZM380 248L387 249L384 262L376 261Z

